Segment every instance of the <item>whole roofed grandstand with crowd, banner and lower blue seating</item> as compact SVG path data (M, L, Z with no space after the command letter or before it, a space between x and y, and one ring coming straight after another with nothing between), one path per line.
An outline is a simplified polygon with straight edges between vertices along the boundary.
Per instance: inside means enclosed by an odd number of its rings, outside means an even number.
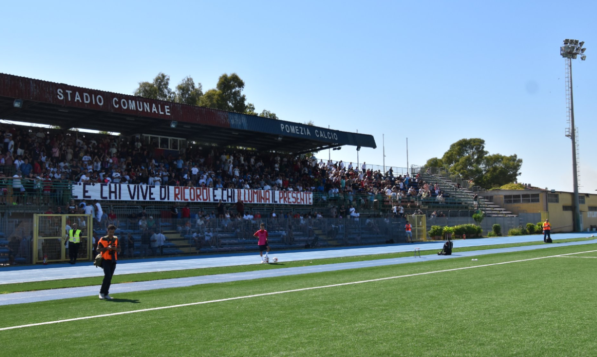
M260 222L273 249L399 243L408 216L427 219L414 225L424 238L427 225L469 219L478 204L466 182L435 169L313 156L376 148L371 135L9 74L0 119L46 126L0 128L4 265L64 261L72 223L83 227L82 259L109 224L122 257L173 256L255 250Z

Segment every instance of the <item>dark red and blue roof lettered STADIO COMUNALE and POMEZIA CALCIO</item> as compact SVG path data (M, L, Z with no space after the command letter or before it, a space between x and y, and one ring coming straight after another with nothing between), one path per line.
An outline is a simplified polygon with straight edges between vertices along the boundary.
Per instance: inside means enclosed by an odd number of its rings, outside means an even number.
M21 107L14 100L23 100ZM116 131L177 136L258 150L315 151L342 145L376 148L372 135L285 120L153 100L0 73L0 118Z

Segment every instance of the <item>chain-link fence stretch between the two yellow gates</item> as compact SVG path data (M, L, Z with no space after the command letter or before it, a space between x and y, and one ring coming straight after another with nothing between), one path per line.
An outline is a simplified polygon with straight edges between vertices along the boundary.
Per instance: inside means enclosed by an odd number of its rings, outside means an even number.
M264 223L273 250L362 246L405 241L401 218L125 219L116 235L121 257L242 252L257 249ZM105 229L96 229L101 237Z

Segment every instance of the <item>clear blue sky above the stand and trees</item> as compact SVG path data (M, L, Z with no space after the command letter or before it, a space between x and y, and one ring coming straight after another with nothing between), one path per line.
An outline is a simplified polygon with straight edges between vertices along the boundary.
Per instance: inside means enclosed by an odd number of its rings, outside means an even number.
M0 72L131 94L158 72L214 88L245 81L257 111L374 135L361 162L424 164L461 138L524 160L519 182L572 190L565 38L581 192L595 193L595 1L7 2ZM595 53L595 57L593 57ZM353 147L332 159L356 162ZM319 153L327 159L328 153Z

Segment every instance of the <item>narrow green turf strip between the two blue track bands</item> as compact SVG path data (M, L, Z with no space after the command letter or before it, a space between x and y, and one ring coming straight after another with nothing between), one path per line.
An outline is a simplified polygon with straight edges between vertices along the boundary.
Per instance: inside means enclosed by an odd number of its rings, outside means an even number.
M567 242L584 241L584 240L586 240L586 238L570 238L570 239L554 240L553 242L554 243L567 243ZM455 240L455 242L457 242L457 241L458 240ZM457 243L455 243L455 244L457 244ZM545 244L545 243L543 243L543 241L527 242L527 243L497 244L494 246L456 248L455 251L456 252L469 252L469 251L473 251L473 250L537 246L537 245L543 245L543 244ZM437 253L436 249L421 250L422 255L436 254L436 253ZM148 272L148 273L140 273L140 274L122 274L122 275L118 274L119 270L122 270L122 269L116 269L116 275L114 275L114 277L112 278L112 283L113 284L133 283L133 282L137 282L137 281L152 281L152 280L162 280L162 279L172 279L172 278L199 277L202 275L229 274L229 273L236 273L236 272L259 271L259 270L265 270L265 269L293 268L296 266L363 262L366 260L408 257L408 256L411 256L412 254L413 254L412 252L374 254L374 255L367 255L367 256L297 260L294 262L280 262L277 264L220 266L220 267L215 267L215 268L184 269L184 270L176 270L176 271L161 271L161 272ZM97 277L34 281L31 283L2 284L2 285L0 285L0 294L16 293L19 291L35 291L35 290L48 290L48 289L56 289L56 288L69 288L69 287L100 285L102 279L103 279L103 274L101 273L101 269L98 269Z

